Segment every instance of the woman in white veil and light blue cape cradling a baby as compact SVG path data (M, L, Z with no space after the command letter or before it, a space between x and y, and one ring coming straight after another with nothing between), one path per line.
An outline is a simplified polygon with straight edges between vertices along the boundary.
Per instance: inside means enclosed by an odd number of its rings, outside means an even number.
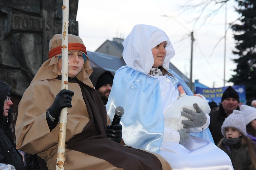
M183 108L181 115L189 118L182 121L183 129L165 127L164 114L179 98L177 88L181 85L186 95L193 95L185 82L169 70L175 51L166 33L139 24L123 46L127 65L116 71L106 107L111 118L116 106L124 108L121 124L126 144L159 153L173 169L233 169L230 158L209 141L209 115L198 104L193 103L195 111Z

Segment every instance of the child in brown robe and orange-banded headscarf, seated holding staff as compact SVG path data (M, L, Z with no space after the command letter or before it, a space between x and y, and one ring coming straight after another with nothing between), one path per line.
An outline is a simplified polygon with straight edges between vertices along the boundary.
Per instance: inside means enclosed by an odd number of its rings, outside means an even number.
M68 34L68 90L61 90L61 34L49 41L49 59L39 68L19 103L16 146L43 158L56 169L59 117L68 107L65 162L69 169L171 169L160 155L126 147L122 125L111 125L101 98L91 83L86 47ZM72 101L72 102L71 102Z

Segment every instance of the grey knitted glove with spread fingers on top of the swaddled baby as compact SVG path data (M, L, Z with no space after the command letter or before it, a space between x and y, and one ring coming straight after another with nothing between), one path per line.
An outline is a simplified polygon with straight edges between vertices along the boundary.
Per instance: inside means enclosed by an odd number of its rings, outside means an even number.
M196 112L187 108L183 108L183 112L181 112L182 116L190 119L181 121L181 123L184 124L183 128L198 128L206 123L207 117L203 113L202 109L197 105L197 103L194 103L193 106L196 109Z

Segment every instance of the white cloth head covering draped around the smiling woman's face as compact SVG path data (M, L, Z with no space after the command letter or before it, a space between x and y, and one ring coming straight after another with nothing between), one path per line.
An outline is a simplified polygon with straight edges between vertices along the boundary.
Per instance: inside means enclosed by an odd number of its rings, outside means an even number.
M166 33L154 26L143 24L134 26L123 42L123 58L126 65L144 74L148 74L154 64L151 49L163 41L167 42L163 68L169 70L170 59L175 55L175 51Z

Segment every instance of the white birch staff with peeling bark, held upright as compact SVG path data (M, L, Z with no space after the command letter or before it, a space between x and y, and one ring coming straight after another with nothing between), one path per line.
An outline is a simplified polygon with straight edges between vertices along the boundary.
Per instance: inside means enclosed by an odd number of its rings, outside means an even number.
M69 26L69 0L63 0L62 5L62 69L61 69L61 89L68 89L68 26ZM56 170L64 169L66 128L67 128L68 108L63 108L59 119L59 141Z

